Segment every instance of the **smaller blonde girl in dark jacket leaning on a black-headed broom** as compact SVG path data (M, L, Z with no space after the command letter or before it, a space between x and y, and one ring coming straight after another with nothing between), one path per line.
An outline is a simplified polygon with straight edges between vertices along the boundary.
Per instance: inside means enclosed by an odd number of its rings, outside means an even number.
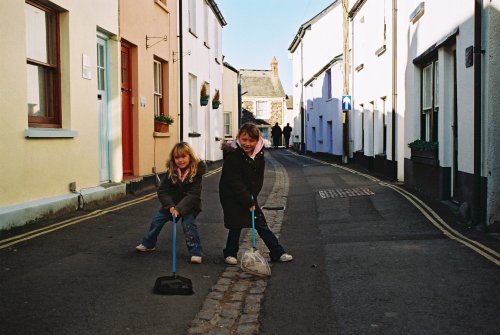
M158 187L161 208L153 216L149 231L137 251L156 250L158 235L165 223L180 220L191 263L202 262L202 247L196 217L201 212L201 182L206 166L186 142L174 145L167 161L167 172Z

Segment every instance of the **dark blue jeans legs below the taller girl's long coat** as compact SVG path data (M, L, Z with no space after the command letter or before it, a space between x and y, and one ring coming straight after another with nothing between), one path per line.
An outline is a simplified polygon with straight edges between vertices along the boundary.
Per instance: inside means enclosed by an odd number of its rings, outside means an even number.
M283 247L279 244L278 239L267 226L267 222L263 217L255 218L255 230L259 233L260 238L269 249L269 257L271 260L277 261L281 255L285 253ZM240 246L241 229L229 229L227 234L226 248L224 249L224 258L238 255Z

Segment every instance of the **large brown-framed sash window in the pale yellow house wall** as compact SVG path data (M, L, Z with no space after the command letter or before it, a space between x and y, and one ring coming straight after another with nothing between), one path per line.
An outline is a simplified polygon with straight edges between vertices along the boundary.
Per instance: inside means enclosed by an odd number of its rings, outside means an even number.
M27 104L29 127L61 128L59 18L56 11L26 2Z

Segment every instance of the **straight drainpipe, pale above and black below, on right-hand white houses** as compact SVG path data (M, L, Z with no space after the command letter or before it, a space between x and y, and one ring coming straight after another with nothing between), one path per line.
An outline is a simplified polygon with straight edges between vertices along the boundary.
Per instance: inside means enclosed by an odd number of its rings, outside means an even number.
M398 180L398 165L396 161L396 111L397 111L397 52L398 52L398 1L392 0L392 179Z

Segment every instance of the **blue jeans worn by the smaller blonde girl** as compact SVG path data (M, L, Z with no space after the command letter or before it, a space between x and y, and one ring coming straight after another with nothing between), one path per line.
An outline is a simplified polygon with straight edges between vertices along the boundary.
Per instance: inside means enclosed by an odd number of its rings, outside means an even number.
M184 230L184 237L186 238L186 246L191 256L201 256L203 250L201 248L200 235L198 234L198 227L196 226L196 217L193 214L183 216L179 219ZM154 248L158 235L167 221L172 221L170 214L157 212L153 216L149 231L142 239L142 244L147 248ZM177 221L178 222L178 221Z

